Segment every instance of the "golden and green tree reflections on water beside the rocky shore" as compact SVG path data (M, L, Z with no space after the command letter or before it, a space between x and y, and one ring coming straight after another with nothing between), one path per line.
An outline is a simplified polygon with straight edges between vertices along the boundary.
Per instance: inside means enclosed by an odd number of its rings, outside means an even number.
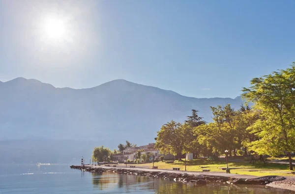
M209 183L206 186L183 184L163 179L115 173L91 173L94 189L119 193L150 194L295 194L265 186Z

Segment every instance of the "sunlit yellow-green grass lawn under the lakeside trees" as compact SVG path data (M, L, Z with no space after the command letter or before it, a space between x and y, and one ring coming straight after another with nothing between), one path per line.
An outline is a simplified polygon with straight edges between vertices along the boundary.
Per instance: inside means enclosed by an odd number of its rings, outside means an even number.
M152 167L152 163L150 164L137 164L137 167ZM180 168L180 170L184 170L184 161L175 161L172 164L166 164L165 162L155 162L154 166L157 166L159 169L169 169L172 168ZM201 168L203 167L203 168ZM204 168L206 167L206 168ZM233 169L231 173L235 174L247 174L247 175L255 175L255 176L266 176L266 175L280 175L280 176L294 176L291 174L288 165L285 164L271 164L271 163L260 163L256 162L256 164L249 164L249 162L230 162L229 168L246 168L246 169ZM226 168L225 161L211 162L206 159L196 159L196 160L188 160L186 161L186 170L188 171L202 171L204 169L211 170L211 172L225 172L220 168ZM249 170L261 170L261 171L249 171ZM288 173L289 172L289 173Z

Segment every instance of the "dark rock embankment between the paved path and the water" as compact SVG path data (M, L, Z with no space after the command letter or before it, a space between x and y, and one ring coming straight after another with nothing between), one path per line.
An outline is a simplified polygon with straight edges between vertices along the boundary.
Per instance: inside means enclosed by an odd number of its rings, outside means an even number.
M231 176L206 175L206 174L188 174L183 171L170 172L169 170L133 170L130 168L104 168L94 166L70 166L71 169L79 169L89 172L114 172L120 174L134 174L139 176L153 176L155 178L163 178L165 180L177 181L183 183L194 183L198 185L206 185L207 182L220 182L228 184L250 184L250 185L266 185L274 181L282 181L282 176L263 176L257 178L236 178Z

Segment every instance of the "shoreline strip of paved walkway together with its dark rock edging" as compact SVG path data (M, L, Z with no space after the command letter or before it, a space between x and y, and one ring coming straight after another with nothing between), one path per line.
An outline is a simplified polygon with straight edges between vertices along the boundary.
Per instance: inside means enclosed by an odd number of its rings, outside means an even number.
M89 172L114 172L134 174L140 176L153 176L155 178L163 178L165 180L195 183L205 185L207 182L220 182L228 184L248 184L248 185L266 185L269 187L279 188L278 182L284 181L286 178L282 176L251 176L243 174L230 174L224 172L195 172L182 170L163 170L163 169L146 169L146 168L126 168L126 167L105 167L105 166L70 166L71 169L79 169ZM274 184L276 183L276 184ZM295 183L295 182L294 182ZM273 186L275 185L275 186ZM294 186L295 187L295 186ZM280 189L288 189L285 186ZM294 188L295 189L295 188ZM292 190L292 189L289 189ZM295 191L295 190L293 190Z

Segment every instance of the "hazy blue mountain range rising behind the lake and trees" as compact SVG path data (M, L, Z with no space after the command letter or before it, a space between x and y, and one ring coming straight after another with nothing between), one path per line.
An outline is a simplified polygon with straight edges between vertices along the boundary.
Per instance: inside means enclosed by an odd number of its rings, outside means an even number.
M129 140L144 145L167 121L182 122L191 109L211 121L209 106L226 103L239 108L242 100L184 97L122 79L76 90L16 78L0 82L0 140L87 140L112 148Z

